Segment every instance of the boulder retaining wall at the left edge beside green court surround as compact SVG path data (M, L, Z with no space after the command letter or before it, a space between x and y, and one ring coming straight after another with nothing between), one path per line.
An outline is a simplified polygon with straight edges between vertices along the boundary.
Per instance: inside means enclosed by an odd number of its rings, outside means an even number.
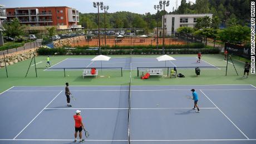
M12 54L11 56L6 56L6 66L12 65L17 62L24 61L28 58L32 58L33 52L35 52L35 50L30 50L28 52L17 53L17 54ZM35 54L37 54L37 53L35 52ZM0 67L4 67L4 66L5 66L4 58L2 57L2 58L0 58Z

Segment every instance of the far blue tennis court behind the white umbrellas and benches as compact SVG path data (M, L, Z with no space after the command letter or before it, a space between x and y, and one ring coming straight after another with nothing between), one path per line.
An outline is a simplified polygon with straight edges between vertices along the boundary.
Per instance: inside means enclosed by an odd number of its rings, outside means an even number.
M91 67L122 67L124 70L137 69L137 67L208 67L206 69L220 69L201 59L196 63L196 57L175 57L176 61L157 61L156 58L111 58L109 61L91 61L88 58L67 58L51 66L54 68L91 68ZM52 68L52 69L51 69ZM204 69L204 68L202 68Z

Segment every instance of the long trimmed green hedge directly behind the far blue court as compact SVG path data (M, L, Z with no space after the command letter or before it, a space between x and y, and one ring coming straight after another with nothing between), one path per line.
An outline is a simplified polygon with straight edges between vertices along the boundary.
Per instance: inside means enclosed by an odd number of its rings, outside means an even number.
M203 54L217 54L220 53L218 48L208 48L208 49L165 49L165 54L196 54L198 52ZM37 53L40 55L97 55L99 51L97 50L88 50L88 49L72 49L68 51L63 48L40 48L37 49ZM152 48L142 48L134 50L131 49L102 49L101 54L162 54L161 49L152 49Z

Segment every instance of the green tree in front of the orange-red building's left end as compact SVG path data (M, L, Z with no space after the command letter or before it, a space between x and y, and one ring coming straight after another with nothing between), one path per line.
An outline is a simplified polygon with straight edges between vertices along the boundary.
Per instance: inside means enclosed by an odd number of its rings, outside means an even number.
M14 18L11 23L4 24L4 29L6 29L4 31L6 36L16 38L24 34L25 26L21 25L17 18Z

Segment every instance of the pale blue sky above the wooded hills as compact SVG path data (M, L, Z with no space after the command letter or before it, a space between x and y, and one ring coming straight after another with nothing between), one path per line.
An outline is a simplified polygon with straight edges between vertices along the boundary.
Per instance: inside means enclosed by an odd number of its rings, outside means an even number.
M195 2L195 0L189 0ZM189 2L187 0L187 2ZM76 8L81 13L97 13L97 9L93 7L92 2L103 2L105 6L109 6L109 13L128 11L133 13L145 14L147 12L156 13L154 5L159 4L158 0L1 0L6 8L10 7L43 7L43 6L67 6ZM178 0L178 6L181 0ZM176 8L176 0L170 1L170 6L166 7L167 12Z

